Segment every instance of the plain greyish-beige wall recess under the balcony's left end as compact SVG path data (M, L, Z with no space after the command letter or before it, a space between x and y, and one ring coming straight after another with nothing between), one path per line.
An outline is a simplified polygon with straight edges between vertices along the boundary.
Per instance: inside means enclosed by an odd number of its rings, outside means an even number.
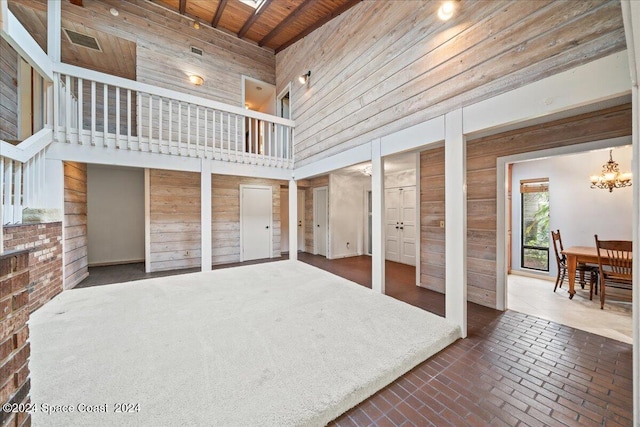
M142 261L144 169L87 165L89 265Z

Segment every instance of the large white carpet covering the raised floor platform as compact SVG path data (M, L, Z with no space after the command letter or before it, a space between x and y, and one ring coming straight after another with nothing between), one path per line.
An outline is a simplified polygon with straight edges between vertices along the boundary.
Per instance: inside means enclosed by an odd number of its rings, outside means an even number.
M71 290L29 324L35 426L323 425L460 336L291 261Z

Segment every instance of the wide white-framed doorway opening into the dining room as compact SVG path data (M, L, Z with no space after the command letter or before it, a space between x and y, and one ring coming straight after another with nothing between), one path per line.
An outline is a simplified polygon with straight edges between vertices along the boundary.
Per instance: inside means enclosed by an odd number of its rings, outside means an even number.
M617 147L613 153L620 169L630 168L631 149L625 144L628 138L615 138L498 159L498 182L504 182L504 191L498 191L498 297L504 295L505 309L631 342L630 293L610 293L608 287L601 310L599 297L590 299L589 283L576 286L571 300L566 279L554 292L555 252L540 243L551 230L561 231L565 249L593 247L594 234L632 239L628 189L610 193L590 188L589 182L610 147ZM539 200L540 195L545 197Z

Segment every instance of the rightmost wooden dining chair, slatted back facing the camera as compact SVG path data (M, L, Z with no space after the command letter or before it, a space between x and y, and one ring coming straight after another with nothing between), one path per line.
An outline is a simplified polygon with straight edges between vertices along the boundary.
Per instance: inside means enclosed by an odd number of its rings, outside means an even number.
M633 243L629 240L598 240L597 234L595 238L600 268L600 308L603 309L606 286L631 290Z

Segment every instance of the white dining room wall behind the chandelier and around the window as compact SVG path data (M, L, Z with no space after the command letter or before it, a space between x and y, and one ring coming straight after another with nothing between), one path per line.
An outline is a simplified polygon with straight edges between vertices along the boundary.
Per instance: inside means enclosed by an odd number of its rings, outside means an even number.
M631 188L614 189L612 193L608 190L590 188L589 177L599 174L607 160L609 160L609 151L602 150L513 165L513 270L521 270L520 180L522 179L549 178L549 227L551 230L560 229L565 248L595 246L594 234L606 240L631 240ZM618 162L621 172L631 171L631 147L615 148L613 160ZM549 270L549 275L555 277L557 267L551 242Z

